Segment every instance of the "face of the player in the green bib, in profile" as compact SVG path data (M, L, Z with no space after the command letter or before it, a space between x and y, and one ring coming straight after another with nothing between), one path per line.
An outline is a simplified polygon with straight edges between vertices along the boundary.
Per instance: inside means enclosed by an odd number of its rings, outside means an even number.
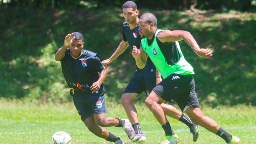
M148 23L145 23L143 19L139 20L139 34L141 38L148 38L152 33L151 26Z

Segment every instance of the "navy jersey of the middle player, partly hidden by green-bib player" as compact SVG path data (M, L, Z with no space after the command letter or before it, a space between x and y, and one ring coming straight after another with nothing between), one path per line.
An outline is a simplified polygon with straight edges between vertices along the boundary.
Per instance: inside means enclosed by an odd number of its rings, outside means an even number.
M128 41L130 47L135 45L138 49L140 49L141 37L139 34L138 25L135 28L130 29L129 24L127 22L124 22L122 27L122 32L123 32L123 41L125 42ZM136 68L137 68L137 72L135 73L135 76L156 77L156 67L149 57L147 59L145 68L139 69L137 66Z

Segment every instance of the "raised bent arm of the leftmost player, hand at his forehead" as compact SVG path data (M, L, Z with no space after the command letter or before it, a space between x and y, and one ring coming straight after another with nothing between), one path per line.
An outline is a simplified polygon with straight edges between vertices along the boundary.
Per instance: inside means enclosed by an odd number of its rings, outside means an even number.
M70 44L72 44L72 42L73 42L74 39L75 39L75 36L74 36L73 38L72 38L72 36L73 36L73 33L72 33L72 34L68 34L68 35L65 37L65 39L64 39L64 45L63 45L63 46L58 50L58 52L56 52L56 54L55 54L55 60L56 60L56 61L60 61L60 60L63 59L64 54L65 54L65 52L66 52L68 46L69 46Z

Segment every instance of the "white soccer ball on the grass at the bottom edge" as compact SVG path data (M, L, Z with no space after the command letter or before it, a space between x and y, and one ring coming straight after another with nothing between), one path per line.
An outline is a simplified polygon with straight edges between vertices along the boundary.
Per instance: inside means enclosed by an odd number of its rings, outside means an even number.
M55 132L51 138L51 144L71 144L72 140L66 132Z

